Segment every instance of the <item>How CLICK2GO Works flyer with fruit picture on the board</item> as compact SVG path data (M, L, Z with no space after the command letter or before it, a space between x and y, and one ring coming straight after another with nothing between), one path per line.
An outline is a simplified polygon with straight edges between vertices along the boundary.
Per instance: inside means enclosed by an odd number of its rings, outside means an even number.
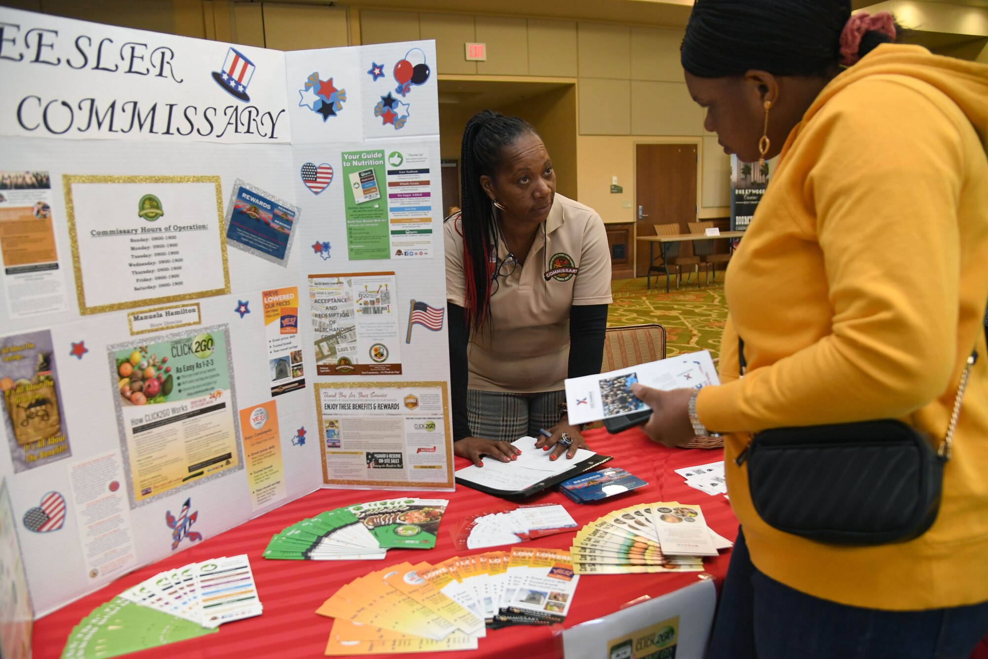
M131 508L243 468L225 325L109 346Z

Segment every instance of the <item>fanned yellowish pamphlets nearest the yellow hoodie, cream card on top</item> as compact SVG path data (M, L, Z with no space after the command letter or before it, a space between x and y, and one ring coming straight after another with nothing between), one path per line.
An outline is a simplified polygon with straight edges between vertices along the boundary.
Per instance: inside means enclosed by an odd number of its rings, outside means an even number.
M731 542L706 525L700 506L637 504L591 521L570 551L577 574L700 572L703 556Z

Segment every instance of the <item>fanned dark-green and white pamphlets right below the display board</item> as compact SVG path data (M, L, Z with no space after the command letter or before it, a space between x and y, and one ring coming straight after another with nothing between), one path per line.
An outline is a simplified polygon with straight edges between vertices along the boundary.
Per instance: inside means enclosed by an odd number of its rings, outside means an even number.
M381 559L392 547L432 549L446 499L386 499L326 511L271 538L265 558L311 561Z

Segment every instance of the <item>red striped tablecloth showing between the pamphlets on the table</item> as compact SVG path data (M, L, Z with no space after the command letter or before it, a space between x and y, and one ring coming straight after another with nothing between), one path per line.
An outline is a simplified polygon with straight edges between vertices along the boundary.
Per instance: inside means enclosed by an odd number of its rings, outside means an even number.
M737 522L730 506L722 496L710 497L688 487L684 479L673 473L681 467L713 462L721 458L720 451L669 449L650 441L640 430L631 429L619 435L609 435L603 428L586 433L588 444L597 452L613 455L608 466L622 467L643 480L648 487L624 497L599 505L579 505L563 495L549 491L534 497L531 503L563 504L577 523L583 525L617 508L634 503L679 501L700 504L707 523L721 535L733 540ZM456 468L466 466L456 459ZM315 614L315 610L340 586L371 570L378 570L402 561L439 563L457 553L473 554L506 547L465 550L457 552L453 534L463 518L474 511L502 501L466 487L457 486L453 493L433 496L448 498L450 506L440 526L439 541L428 551L391 549L383 561L273 561L261 553L274 533L301 518L341 506L404 496L403 493L379 490L319 490L293 501L260 518L231 528L215 537L198 542L191 548L176 552L165 560L125 575L117 582L88 595L67 607L53 612L35 623L34 656L38 659L58 657L72 627L87 613L112 600L124 589L165 569L171 569L207 558L247 554L257 581L258 593L264 604L264 614L224 624L219 633L191 641L163 645L139 653L141 657L319 657L323 655L332 620ZM416 493L412 496L431 496ZM566 548L574 533L559 533L539 538L531 546ZM730 552L704 561L707 572L723 578ZM648 596L658 597L697 582L698 573L654 575L593 575L580 579L572 608L563 625L555 627L518 626L488 630L480 639L477 650L445 652L444 657L553 657L561 655L556 632L562 627L602 617L618 611L623 605ZM399 656L399 655L374 655ZM407 655L416 656L416 655ZM418 655L422 656L422 655Z

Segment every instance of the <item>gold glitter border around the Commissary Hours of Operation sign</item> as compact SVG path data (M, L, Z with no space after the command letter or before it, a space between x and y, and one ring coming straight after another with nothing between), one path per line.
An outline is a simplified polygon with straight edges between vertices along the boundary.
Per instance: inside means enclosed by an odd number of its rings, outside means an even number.
M216 219L219 221L219 246L223 258L223 288L184 293L166 297L144 298L130 302L118 302L109 305L88 307L86 293L83 288L82 264L79 262L79 236L75 226L75 207L72 202L72 184L74 183L213 183L216 186ZM219 176L111 176L102 174L63 174L62 190L65 194L65 217L68 222L69 243L72 247L72 270L75 273L75 293L79 301L79 314L104 314L124 309L138 307L154 307L172 302L188 302L216 295L229 295L230 269L226 257L226 227L223 220L223 191ZM129 322L129 321L128 321Z

